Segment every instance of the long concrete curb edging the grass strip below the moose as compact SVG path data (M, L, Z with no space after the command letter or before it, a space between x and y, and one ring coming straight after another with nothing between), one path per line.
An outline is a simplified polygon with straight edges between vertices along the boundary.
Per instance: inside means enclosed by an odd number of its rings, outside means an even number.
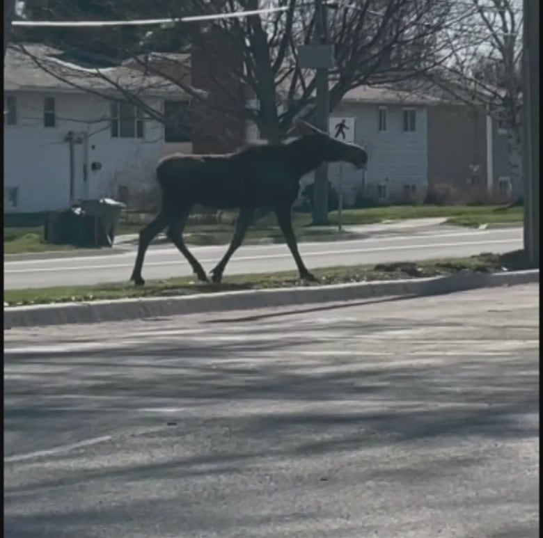
M540 271L533 269L508 273L459 274L317 287L288 287L279 290L219 292L184 297L15 306L3 309L3 327L9 329L17 326L113 322L123 319L186 315L198 312L352 301L379 296L424 296L472 290L478 287L539 283L539 281Z

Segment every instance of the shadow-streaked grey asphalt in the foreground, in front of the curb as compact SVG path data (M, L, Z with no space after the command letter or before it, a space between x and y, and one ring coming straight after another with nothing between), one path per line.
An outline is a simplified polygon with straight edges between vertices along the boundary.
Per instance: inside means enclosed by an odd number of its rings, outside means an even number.
M4 535L535 538L538 297L4 331Z

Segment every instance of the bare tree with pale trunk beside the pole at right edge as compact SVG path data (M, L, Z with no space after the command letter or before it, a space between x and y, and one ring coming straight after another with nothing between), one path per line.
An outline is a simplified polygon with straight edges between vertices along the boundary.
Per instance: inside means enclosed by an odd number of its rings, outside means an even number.
M507 131L512 197L521 181L522 6L518 0L464 0L462 19L439 36L448 61L425 75L446 95L485 109Z

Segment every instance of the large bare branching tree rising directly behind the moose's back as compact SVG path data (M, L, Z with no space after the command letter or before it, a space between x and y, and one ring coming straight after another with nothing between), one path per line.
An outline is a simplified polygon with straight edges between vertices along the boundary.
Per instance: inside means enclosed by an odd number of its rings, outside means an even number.
M114 8L111 13L118 13L118 18L136 18L139 15L134 10L134 6L139 5L137 2L103 0L107 1ZM259 0L186 0L166 4L166 13L160 13L161 16L226 14L263 7ZM454 4L454 0L359 0L351 6L340 0L327 6L329 38L336 49L336 67L330 72L330 108L334 109L352 88L392 84L421 75L442 63L448 49L445 45L440 49L435 36L447 26ZM70 15L70 3L63 3L63 6L63 19L78 18L75 8ZM185 90L195 102L221 107L223 111L238 116L241 114L255 122L265 139L283 139L294 118L311 118L315 113L315 72L304 70L297 63L298 47L314 40L315 11L313 2L309 0L269 0L266 6L285 10L171 25L187 35L193 51L198 48L217 58L226 45L239 55L239 62L229 65L228 73L220 69L210 72L213 83L220 90L220 99L198 92L171 69L164 69L164 64L157 63L157 55L151 60L150 56L142 54L145 43L161 42L162 48L166 47L164 35L168 32L172 35L172 27L145 31L137 46L134 46L134 40L123 42L122 39L118 39L116 46L125 61L132 58L132 65L145 73L161 75ZM56 13L51 13L49 18L54 15ZM212 35L219 35L222 41L210 39ZM111 40L111 33L104 33L102 39ZM65 74L53 64L45 65L39 58L34 59L41 68L65 79ZM175 62L171 58L170 61ZM121 87L119 81L109 80L103 70L95 70L93 76L109 81L124 98L134 101L141 97L134 96L130 88ZM240 109L239 84L231 84L233 81L242 85L244 102L252 97L258 101L258 106L242 106ZM195 81L192 83L197 86ZM104 90L98 91L104 97L111 96ZM153 118L164 119L161 110L151 111L147 107L147 111Z

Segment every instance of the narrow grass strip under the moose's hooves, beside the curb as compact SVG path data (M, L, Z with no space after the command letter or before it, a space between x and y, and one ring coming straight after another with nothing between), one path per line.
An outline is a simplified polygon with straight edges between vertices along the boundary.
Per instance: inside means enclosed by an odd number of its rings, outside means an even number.
M221 284L199 283L194 278L185 277L150 280L143 287L135 287L132 283L125 282L93 286L4 290L4 306L97 301L100 299L186 296L197 293L272 289L297 285L318 286L400 278L424 278L469 272L491 273L527 269L528 267L524 251L514 251L505 255L487 253L469 258L315 269L313 274L319 278L319 283L302 283L297 272L286 271L235 276L228 276L227 274Z

